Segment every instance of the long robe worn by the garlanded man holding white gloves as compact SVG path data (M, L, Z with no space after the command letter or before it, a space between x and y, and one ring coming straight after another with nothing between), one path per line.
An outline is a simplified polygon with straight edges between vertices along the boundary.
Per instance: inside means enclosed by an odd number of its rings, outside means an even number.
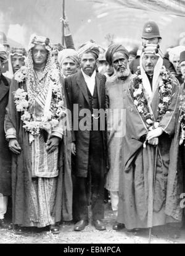
M120 171L118 222L126 228L149 228L166 223L181 222L182 209L178 204L181 184L175 169L168 171L171 139L175 134L178 114L179 85L173 80L173 98L159 127L163 134L158 138L157 150L152 145L143 147L147 126L134 105L133 84L126 97L126 135L123 138L123 161ZM155 119L158 116L158 87L150 103ZM156 160L156 165L155 165ZM154 167L155 166L155 167ZM152 220L149 221L150 191L149 171L155 169L154 198L152 198ZM174 185L178 189L174 189Z

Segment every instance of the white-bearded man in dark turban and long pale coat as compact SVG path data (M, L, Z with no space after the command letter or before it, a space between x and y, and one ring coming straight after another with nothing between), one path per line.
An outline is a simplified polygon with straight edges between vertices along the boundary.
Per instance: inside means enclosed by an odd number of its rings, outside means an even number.
M110 191L110 202L115 216L118 212L119 174L121 171L122 139L125 135L125 97L126 90L134 75L131 74L128 64L129 53L122 45L113 44L106 52L106 60L115 70L115 75L105 83L108 152L110 169L107 173L105 188ZM123 153L124 157L124 153ZM124 228L124 224L113 224L113 229Z

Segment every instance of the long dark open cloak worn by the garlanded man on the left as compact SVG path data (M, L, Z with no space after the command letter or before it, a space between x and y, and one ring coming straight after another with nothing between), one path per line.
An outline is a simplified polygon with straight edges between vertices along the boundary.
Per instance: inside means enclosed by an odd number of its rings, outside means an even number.
M62 77L60 83L63 85ZM25 82L22 82L24 90L27 92ZM12 155L12 206L13 223L22 226L30 226L30 191L31 191L31 158L28 132L23 129L23 122L20 113L17 112L14 95L20 83L12 79L9 93L9 104L7 105L5 129L15 129L16 137L22 148L19 155ZM66 103L65 103L66 106ZM70 133L64 132L64 136L59 145L59 176L57 176L54 216L55 222L61 220L72 220L72 179L70 162Z

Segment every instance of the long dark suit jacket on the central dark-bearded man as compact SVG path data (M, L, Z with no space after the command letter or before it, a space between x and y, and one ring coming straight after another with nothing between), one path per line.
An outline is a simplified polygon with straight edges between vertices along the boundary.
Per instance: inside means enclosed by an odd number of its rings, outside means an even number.
M99 108L105 110L105 75L96 74L97 94L99 100ZM76 158L75 158L75 174L79 177L87 177L88 163L89 163L89 138L91 126L86 130L78 129L78 124L84 115L80 112L82 109L90 109L88 90L83 74L78 71L74 75L65 78L65 92L67 96L67 105L72 113L72 141L76 144ZM75 106L74 106L75 105ZM74 108L73 108L74 106ZM91 114L87 116L91 119ZM101 119L102 121L102 119ZM105 120L105 130L102 130L102 140L104 147L104 172L109 168L107 163L107 124Z

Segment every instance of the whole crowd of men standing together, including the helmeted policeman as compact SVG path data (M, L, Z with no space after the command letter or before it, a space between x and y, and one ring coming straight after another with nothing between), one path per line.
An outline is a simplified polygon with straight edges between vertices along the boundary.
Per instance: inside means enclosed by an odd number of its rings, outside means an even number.
M183 226L185 46L160 49L144 24L141 52L93 40L75 50L33 35L0 45L0 226L60 232L62 221L104 231ZM106 190L105 190L106 189ZM4 221L12 202L12 225Z

